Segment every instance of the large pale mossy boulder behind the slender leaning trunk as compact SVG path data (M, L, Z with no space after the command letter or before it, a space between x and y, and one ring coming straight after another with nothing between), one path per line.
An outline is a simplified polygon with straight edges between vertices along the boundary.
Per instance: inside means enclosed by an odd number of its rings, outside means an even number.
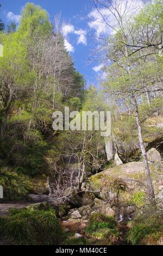
M163 173L155 163L149 162L149 168L156 198L161 199L163 194ZM104 170L91 176L89 184L91 191L100 191L98 196L107 201L111 208L114 205L116 206L118 202L124 205L141 206L147 192L143 162L130 162Z

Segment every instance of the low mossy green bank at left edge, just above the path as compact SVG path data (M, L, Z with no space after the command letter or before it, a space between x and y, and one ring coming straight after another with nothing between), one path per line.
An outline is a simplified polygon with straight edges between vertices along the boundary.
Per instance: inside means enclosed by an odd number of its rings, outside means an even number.
M24 199L32 190L30 179L10 168L0 169L0 184L3 186L5 200Z

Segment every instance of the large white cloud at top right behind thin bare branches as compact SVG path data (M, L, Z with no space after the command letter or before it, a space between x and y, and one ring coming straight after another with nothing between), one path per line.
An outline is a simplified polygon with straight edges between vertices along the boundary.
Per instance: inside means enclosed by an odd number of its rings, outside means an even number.
M113 7L116 7L118 13L123 16L124 20L126 19L127 23L131 19L131 16L136 14L137 11L142 8L144 4L143 1L145 0L112 0L111 5L108 5L110 10L101 5L101 7L98 8L99 11L93 9L89 13L88 16L90 17L90 21L88 22L88 25L95 31L97 37L99 37L101 34L114 34L115 30L111 27L118 28L118 24L114 16L116 15L118 17L118 14ZM103 17L111 27L105 24Z

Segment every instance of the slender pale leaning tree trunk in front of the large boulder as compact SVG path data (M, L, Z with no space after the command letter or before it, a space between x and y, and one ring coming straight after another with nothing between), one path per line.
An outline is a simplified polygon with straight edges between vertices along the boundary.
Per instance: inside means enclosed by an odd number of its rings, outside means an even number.
M155 204L155 195L154 195L154 189L153 189L153 184L152 184L152 179L151 179L151 173L149 170L149 164L147 160L147 153L146 153L146 148L145 144L143 142L142 138L142 128L141 128L141 122L139 118L139 111L137 108L137 102L135 99L135 96L133 96L134 100L134 107L135 107L135 115L136 115L136 123L137 123L137 129L138 129L138 136L139 136L139 142L140 142L140 148L141 148L141 153L143 156L143 163L145 166L145 175L146 175L146 183L147 183L147 188L148 188L148 196L149 200L152 204Z

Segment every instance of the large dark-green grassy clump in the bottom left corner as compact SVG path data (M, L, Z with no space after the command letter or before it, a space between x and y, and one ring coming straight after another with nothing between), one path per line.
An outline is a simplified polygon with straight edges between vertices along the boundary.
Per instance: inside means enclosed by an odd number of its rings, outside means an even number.
M53 209L12 210L0 218L0 233L17 245L58 245L63 235Z

